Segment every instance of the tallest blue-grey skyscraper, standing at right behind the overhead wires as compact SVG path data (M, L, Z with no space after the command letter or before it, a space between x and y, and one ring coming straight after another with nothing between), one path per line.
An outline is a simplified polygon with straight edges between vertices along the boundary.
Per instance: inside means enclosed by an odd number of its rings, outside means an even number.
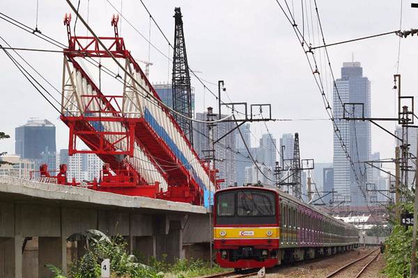
M364 163L371 156L371 129L367 121L345 121L344 108L341 104L356 103L364 106L346 106L346 116L370 117L371 92L370 81L363 76L363 69L359 62L343 63L341 79L336 79L333 92L333 112L337 119L338 132L346 146L350 158L355 163L355 173L350 166L346 153L341 147L339 138L334 133L334 189L341 200L350 201L351 206L364 206L365 199L359 186L364 187L369 175ZM353 111L354 108L354 111ZM357 183L355 177L359 179Z

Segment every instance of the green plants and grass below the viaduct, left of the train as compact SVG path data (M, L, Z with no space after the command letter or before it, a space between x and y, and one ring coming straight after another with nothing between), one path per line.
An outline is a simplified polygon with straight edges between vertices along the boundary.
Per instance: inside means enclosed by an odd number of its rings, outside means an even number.
M191 278L226 271L215 265L210 268L208 262L201 259L179 259L176 263L167 263L164 256L161 261L154 257L127 254L127 243L122 236L108 237L100 231L88 230L86 234L75 235L86 238L86 253L70 267L72 278L99 278L100 263L110 259L111 277L123 278ZM55 278L65 278L59 268L46 265Z

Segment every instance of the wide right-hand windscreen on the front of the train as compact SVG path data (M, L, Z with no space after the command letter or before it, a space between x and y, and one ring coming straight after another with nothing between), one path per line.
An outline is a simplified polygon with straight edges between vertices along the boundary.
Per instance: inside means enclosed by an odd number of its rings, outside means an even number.
M274 216L275 196L270 192L242 190L237 194L238 216Z

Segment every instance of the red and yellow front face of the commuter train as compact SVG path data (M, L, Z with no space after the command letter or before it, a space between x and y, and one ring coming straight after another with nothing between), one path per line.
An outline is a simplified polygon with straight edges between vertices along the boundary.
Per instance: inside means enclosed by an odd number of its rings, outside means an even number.
M215 193L213 238L223 268L261 268L277 264L277 192L240 187Z

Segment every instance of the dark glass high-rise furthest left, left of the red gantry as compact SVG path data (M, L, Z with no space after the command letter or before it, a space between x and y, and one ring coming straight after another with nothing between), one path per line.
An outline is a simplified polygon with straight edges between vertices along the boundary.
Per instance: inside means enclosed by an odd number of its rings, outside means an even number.
M56 153L55 126L48 120L31 118L15 129L15 153L21 158L42 161L42 152Z

